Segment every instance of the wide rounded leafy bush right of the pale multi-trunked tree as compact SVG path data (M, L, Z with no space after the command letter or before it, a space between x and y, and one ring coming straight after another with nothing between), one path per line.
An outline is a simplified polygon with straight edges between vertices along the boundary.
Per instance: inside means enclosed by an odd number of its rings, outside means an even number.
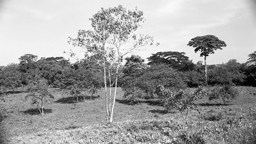
M185 81L182 72L168 65L152 65L123 79L124 98L127 101L136 101L138 98L158 98L156 94L158 85L163 85L164 87L177 91L186 87Z

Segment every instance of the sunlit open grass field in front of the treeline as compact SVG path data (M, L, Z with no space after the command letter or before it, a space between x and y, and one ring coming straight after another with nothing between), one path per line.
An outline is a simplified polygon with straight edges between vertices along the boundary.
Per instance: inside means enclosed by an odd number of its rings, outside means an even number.
M165 113L157 100L123 103L117 92L114 124L106 124L103 89L93 100L55 92L41 116L16 92L2 98L0 143L253 143L256 142L256 88L237 87L240 97L226 105L200 99L189 126L178 111ZM253 141L254 140L254 141Z

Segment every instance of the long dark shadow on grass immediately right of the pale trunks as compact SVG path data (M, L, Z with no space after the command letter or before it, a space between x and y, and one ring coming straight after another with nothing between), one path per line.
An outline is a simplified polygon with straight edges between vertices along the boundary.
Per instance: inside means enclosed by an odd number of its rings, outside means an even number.
M125 99L123 99L123 100L116 99L116 102L125 104L125 105L135 105L135 104L145 103L145 104L148 104L151 106L162 106L161 102L158 100L139 100L139 101L136 101L133 103L133 102L127 101Z

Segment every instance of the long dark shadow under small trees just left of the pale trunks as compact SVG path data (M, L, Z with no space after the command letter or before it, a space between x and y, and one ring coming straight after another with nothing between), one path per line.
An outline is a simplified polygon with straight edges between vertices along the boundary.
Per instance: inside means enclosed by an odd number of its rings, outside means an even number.
M92 97L92 100L97 99L99 97ZM90 96L86 96L86 97L78 97L78 102L83 102L85 100L91 100ZM57 101L55 101L54 103L61 103L61 104L74 104L77 103L77 97L66 97L66 98L61 98L58 99Z

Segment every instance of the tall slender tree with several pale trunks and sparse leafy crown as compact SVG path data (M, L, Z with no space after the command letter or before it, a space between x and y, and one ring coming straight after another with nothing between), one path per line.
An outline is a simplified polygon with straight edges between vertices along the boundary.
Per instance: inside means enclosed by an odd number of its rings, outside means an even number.
M77 38L70 38L69 43L84 48L85 59L90 59L104 68L106 117L109 123L113 123L117 80L123 56L139 51L141 46L153 45L154 40L152 36L134 33L141 26L140 22L144 21L143 12L137 8L134 11L127 10L121 5L108 9L101 8L90 20L93 30L79 30ZM107 78L110 82L108 86ZM115 92L112 96L114 85Z

